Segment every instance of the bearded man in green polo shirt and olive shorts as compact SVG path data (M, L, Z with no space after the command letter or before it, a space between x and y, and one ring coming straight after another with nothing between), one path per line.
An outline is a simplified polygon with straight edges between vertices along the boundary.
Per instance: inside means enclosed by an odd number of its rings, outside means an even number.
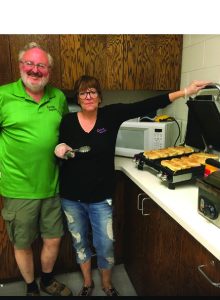
M63 235L53 150L60 120L68 111L64 94L48 85L52 66L51 55L29 43L19 52L21 78L0 87L2 216L27 296L40 295L31 248L39 233L43 240L40 288L54 296L72 295L52 273Z

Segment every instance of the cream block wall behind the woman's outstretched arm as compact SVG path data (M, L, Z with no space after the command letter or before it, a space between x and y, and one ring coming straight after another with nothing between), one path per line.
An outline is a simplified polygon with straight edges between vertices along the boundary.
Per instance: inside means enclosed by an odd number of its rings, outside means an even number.
M181 88L194 79L220 83L220 35L183 36ZM185 102L181 99L163 111L182 121L182 142L188 111Z

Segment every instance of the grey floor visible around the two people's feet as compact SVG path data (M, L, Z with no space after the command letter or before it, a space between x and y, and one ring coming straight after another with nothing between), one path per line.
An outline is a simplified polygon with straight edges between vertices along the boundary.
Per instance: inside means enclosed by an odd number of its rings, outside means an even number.
M56 275L56 279L65 283L73 292L73 295L77 295L82 286L82 277L80 272L66 273ZM93 270L93 280L95 283L95 289L93 296L105 296L100 286L100 276L97 269ZM124 269L124 265L116 265L112 273L112 282L115 288L120 293L120 296L137 296L135 289L133 288L128 275ZM0 283L0 296L24 296L25 284L23 281L17 281L13 283ZM41 292L42 296L48 296Z

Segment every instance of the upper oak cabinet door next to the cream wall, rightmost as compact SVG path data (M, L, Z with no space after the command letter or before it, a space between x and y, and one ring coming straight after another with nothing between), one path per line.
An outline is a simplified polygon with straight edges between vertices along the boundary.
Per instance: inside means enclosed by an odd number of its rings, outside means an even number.
M177 90L182 35L125 35L124 89Z

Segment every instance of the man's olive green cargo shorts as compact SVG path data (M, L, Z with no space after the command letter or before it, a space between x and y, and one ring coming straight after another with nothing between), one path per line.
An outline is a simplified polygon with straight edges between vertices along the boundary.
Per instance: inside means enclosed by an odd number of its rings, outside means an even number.
M34 200L4 197L2 217L9 239L17 249L29 248L38 235L50 239L64 233L59 197Z

